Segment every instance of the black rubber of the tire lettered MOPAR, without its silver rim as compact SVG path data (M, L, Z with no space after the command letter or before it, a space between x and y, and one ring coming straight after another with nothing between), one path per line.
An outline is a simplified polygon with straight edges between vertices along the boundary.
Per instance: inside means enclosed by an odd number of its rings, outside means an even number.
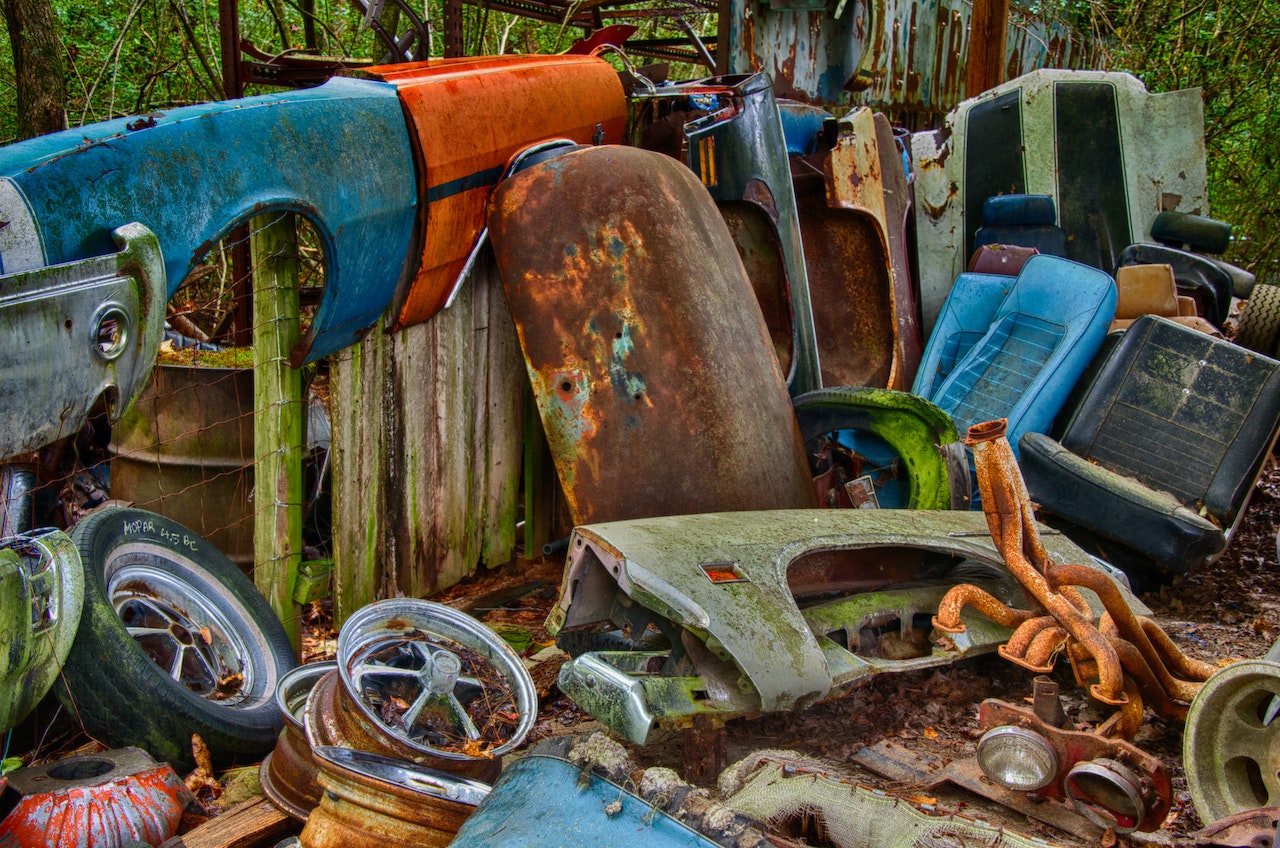
M192 530L143 510L96 512L76 525L72 538L84 566L84 610L56 692L90 735L113 748L137 746L179 771L193 765L192 734L200 734L219 767L253 762L270 751L284 725L275 684L296 661L288 634L253 583ZM248 620L252 633L239 634L251 651L257 648L257 656L243 658L255 662L248 701L224 706L189 692L129 637L111 607L105 574L113 553L134 542L161 556L180 551L198 573L166 560L174 573L215 584L227 597L206 599L223 610L234 605L236 617Z

